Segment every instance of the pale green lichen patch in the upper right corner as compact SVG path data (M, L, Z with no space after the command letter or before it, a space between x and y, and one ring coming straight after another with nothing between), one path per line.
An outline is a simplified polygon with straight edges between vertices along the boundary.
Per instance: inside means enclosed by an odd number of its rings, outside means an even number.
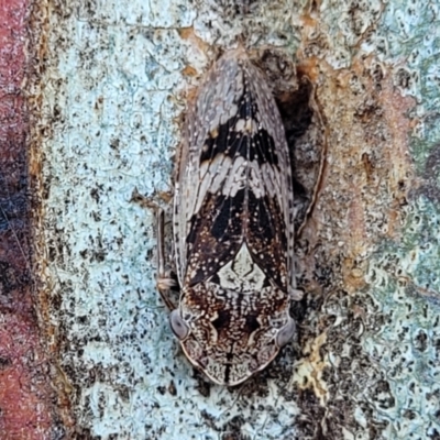
M440 9L436 1L389 2L378 31L387 37L388 61L396 63L395 86L416 98L411 152L418 174L440 141Z

